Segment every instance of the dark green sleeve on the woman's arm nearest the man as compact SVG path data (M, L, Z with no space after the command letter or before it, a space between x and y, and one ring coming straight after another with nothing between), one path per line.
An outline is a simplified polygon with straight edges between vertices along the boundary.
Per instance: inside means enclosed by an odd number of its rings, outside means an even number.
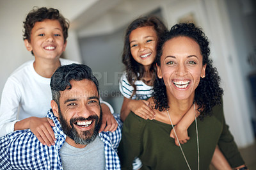
M144 127L145 123L143 123L142 118L139 118L133 112L127 116L118 148L122 169L132 169L134 158L140 156Z

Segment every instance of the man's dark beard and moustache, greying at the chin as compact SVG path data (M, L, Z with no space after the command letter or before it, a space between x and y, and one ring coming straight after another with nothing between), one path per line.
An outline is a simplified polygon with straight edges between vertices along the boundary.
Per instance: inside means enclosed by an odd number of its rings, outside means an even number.
M59 109L59 111L60 111L60 109ZM100 109L100 118L97 115L92 115L92 116L89 116L88 118L83 118L83 117L72 118L72 119L70 119L70 122L69 122L70 125L68 125L67 121L63 118L61 111L59 112L59 115L60 115L61 128L62 128L64 134L66 134L73 141L75 141L76 144L84 144L84 145L90 144L96 139L97 135L99 134L99 130L101 127L101 121L102 121L101 109ZM86 121L86 120L95 121L94 130L93 130L93 128L91 128L90 130L86 130L86 131L83 131L80 133L77 132L73 123L76 121ZM99 120L99 122L98 122L98 120ZM93 130L93 132L92 132L92 130Z

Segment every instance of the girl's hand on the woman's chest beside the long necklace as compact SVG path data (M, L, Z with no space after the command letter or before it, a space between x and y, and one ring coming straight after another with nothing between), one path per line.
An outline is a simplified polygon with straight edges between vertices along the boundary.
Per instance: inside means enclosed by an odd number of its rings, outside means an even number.
M176 134L177 134L177 136L179 138L180 144L187 143L188 140L190 139L190 137L188 136L188 130L180 128L179 124L177 124L174 128L175 128L175 132L176 132ZM174 133L173 129L171 130L170 137L174 138L175 144L177 146L179 146L177 137L175 136L175 133Z

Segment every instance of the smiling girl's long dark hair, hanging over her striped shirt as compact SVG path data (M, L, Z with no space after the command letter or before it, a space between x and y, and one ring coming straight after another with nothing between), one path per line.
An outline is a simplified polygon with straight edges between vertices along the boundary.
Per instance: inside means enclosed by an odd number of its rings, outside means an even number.
M125 37L124 37L124 50L122 54L122 62L125 65L127 80L131 84L131 86L134 88L134 91L131 97L136 93L136 85L134 84L134 82L141 80L145 70L143 65L141 65L140 63L135 61L134 58L132 58L129 36L131 35L131 32L134 29L137 29L138 27L145 27L145 26L154 26L157 37L162 35L164 32L168 31L163 21L161 21L158 17L155 17L155 16L139 17L138 19L132 21L131 24L129 24L129 26L127 27L125 32ZM156 72L155 63L152 63L150 67L150 72L152 73Z

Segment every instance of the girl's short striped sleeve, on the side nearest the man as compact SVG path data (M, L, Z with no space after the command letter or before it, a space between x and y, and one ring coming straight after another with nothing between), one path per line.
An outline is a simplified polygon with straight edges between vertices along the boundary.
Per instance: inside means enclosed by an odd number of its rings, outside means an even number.
M124 97L131 98L131 95L134 91L134 88L128 82L127 77L126 77L126 73L123 73L122 77L120 78L119 90L120 90L120 92L122 93L122 95Z

